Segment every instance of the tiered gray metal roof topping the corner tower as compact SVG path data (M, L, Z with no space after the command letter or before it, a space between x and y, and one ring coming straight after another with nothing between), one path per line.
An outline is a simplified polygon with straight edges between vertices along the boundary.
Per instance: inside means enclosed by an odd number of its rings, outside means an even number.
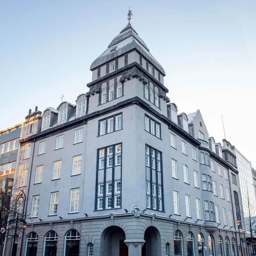
M129 52L132 49L137 49L149 62L165 75L164 68L152 56L147 45L143 42L135 29L132 28L130 23L128 23L119 35L112 40L108 45L108 49L92 62L90 70L124 54L125 52Z

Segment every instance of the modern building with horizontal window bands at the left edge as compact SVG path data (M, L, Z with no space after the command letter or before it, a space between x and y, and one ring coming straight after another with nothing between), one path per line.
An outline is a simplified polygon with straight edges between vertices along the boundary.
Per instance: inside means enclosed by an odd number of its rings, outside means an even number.
M0 131L0 204L3 206L3 200L8 200L12 195L12 187L15 188L14 173L16 167L16 159L18 156L19 140L22 124L17 124L13 127ZM6 198L6 196L8 198ZM1 228L6 230L6 221L4 219L4 210L1 209ZM3 253L3 247L6 231L0 233L0 255Z

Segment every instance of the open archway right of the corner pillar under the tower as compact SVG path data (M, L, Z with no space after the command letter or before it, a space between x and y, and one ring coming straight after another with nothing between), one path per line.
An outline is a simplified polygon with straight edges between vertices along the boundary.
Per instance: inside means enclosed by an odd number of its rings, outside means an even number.
M141 248L141 256L161 255L161 236L157 228L148 227L145 230L144 240L146 243Z

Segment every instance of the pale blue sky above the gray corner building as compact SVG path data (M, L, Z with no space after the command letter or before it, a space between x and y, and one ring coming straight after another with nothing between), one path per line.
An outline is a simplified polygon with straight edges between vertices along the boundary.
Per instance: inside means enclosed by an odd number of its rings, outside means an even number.
M200 109L208 132L226 137L256 167L256 1L1 0L0 130L28 109L75 103L90 65L132 26L165 69L179 112Z

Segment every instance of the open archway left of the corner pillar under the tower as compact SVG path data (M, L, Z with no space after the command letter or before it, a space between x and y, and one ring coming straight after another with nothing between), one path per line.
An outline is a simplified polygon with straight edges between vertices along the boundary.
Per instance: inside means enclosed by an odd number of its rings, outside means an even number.
M100 239L100 255L128 256L128 247L124 243L125 234L122 228L111 226L106 228Z

